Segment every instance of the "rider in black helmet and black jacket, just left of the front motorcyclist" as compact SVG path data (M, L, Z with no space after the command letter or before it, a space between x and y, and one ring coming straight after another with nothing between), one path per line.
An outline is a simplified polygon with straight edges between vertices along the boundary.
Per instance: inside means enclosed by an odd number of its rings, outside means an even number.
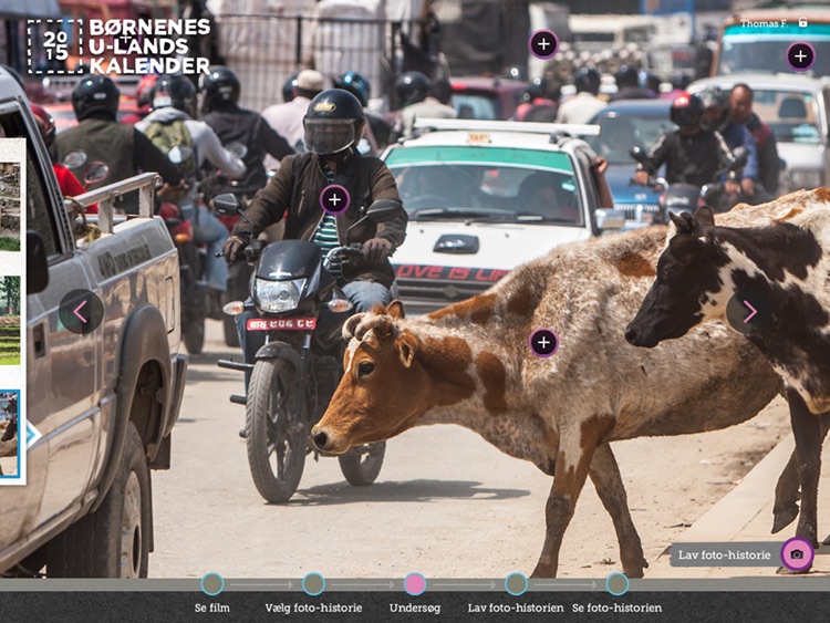
M262 115L239 106L240 94L239 76L228 68L217 65L199 76L201 121L214 129L222 145L241 143L248 149L242 158L245 176L220 191L252 197L268 181L262 165L266 154L281 160L294 150Z

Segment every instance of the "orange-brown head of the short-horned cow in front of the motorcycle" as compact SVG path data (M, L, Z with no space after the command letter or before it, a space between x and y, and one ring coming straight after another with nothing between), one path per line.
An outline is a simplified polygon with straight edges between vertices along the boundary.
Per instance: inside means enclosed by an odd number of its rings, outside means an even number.
M401 326L403 305L356 314L343 326L349 347L343 378L311 438L321 450L386 439L412 426L428 408L428 375L418 362L419 340Z

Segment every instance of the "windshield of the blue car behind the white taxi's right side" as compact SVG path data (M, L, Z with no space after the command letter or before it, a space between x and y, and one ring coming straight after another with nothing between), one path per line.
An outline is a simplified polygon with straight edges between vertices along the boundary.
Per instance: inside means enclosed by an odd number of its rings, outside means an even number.
M612 165L632 165L630 150L642 147L649 150L664 132L674 132L677 126L665 115L620 115L609 113L599 120L600 134L588 142L598 155L608 158Z

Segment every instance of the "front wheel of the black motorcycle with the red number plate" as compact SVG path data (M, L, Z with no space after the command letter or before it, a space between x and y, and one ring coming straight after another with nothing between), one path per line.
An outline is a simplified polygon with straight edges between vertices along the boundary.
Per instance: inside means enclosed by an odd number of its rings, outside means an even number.
M299 373L287 360L259 360L253 366L245 417L248 464L257 490L269 502L291 499L305 465L305 401L299 420L291 423L298 386Z

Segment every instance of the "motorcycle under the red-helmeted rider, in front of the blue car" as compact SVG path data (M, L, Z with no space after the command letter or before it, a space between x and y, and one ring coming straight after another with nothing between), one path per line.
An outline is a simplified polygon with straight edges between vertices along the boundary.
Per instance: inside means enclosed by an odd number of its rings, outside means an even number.
M631 157L637 163L645 162L645 150L640 146L634 146L629 152ZM736 179L736 173L746 166L747 153L743 148L735 149L734 157L729 164L719 169L715 177L719 178L724 174L727 174L729 179ZM631 184L636 184L633 179ZM668 214L679 212L694 212L702 206L710 206L716 212L725 212L732 209L733 206L741 200L741 196L729 195L726 193L724 181L713 181L704 186L697 186L695 184L686 183L673 183L670 184L663 177L649 176L646 186L654 189L662 189L660 198L657 199L657 206L660 206L660 212L654 219L655 224L668 222Z

